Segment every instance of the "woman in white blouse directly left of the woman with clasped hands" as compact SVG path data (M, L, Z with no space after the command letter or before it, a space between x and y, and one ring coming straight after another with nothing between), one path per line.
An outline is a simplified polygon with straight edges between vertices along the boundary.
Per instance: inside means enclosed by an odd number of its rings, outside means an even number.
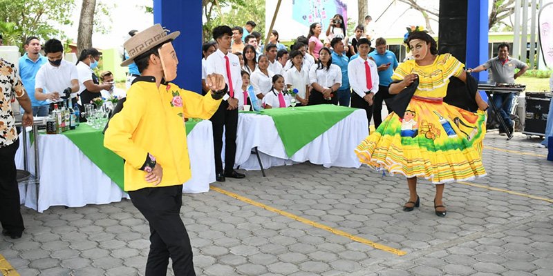
M296 100L301 106L307 106L309 99L309 72L303 67L303 54L298 50L290 53L292 68L286 70L284 79L288 89L297 89Z

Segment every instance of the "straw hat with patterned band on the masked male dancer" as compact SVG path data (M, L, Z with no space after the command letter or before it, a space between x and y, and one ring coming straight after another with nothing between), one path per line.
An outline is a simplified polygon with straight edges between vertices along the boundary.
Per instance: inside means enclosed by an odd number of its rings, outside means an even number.
M151 48L156 47L163 42L176 39L179 35L179 31L167 34L160 24L151 26L142 32L135 33L135 35L125 41L123 45L126 52L129 53L129 59L125 59L121 63L121 66L128 66L133 63L136 57L144 54L144 52L147 52Z

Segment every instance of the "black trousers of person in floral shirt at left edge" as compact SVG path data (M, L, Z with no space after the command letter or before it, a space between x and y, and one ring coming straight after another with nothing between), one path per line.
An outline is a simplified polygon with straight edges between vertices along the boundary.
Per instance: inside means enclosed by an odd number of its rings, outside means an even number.
M19 139L10 146L0 148L0 222L2 228L13 235L21 235L25 229L19 206L19 186L15 169L15 152Z

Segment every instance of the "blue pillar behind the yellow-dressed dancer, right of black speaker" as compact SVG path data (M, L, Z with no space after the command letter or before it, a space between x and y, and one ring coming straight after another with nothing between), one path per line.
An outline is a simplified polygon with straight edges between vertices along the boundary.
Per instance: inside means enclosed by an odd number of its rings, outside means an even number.
M467 68L488 60L488 1L469 0L467 14ZM478 81L487 81L487 71L473 73Z

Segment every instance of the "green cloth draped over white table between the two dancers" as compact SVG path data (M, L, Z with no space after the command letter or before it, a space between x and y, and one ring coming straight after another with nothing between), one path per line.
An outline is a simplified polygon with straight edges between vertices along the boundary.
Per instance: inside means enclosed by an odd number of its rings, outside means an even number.
M319 104L292 108L271 108L260 114L272 117L288 157L306 146L330 129L337 122L348 117L355 108Z

